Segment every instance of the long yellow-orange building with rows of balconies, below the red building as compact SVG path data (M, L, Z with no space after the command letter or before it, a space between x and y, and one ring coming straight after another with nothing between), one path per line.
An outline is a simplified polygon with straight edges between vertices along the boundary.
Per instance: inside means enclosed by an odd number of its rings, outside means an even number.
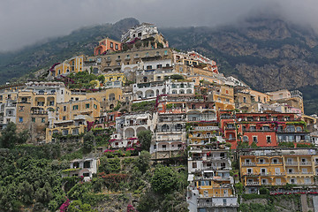
M256 193L259 186L314 186L318 153L314 148L242 150L239 170L247 193Z

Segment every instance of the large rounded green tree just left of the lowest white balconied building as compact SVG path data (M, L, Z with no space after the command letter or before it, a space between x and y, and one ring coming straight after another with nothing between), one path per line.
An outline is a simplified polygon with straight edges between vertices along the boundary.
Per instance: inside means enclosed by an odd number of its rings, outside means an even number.
M178 176L170 167L157 165L150 183L155 193L171 193L177 189Z

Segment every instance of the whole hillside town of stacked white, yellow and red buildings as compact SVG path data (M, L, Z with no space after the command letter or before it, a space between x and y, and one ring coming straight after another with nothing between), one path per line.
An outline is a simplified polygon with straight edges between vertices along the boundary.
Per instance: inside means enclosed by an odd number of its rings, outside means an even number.
M154 24L129 29L121 41L102 39L92 56L52 64L45 79L0 89L0 129L14 123L27 143L109 133L63 178L90 181L101 155L140 149L139 134L149 132L152 163L186 160L190 212L238 211L242 193L264 188L318 192L318 117L304 113L301 92L262 93L225 77L214 60L170 48Z

